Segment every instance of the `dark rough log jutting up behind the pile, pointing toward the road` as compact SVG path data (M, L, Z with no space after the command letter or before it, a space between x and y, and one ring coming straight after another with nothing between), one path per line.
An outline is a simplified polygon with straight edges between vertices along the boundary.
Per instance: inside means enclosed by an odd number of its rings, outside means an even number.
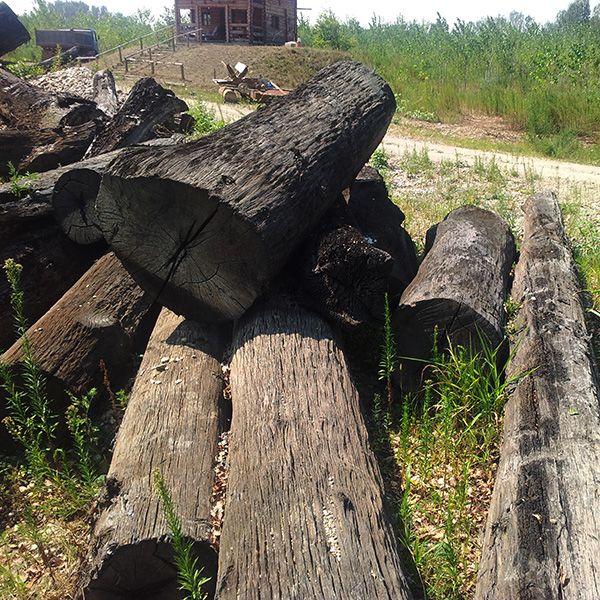
M188 109L171 90L151 77L136 82L127 100L92 142L86 158L158 137L156 128Z

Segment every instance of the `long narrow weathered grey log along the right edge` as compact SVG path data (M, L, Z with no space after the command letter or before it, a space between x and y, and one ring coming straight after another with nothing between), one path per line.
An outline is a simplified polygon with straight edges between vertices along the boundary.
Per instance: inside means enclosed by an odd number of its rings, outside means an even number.
M600 399L580 291L556 198L533 196L509 366L527 375L505 409L478 600L600 598Z

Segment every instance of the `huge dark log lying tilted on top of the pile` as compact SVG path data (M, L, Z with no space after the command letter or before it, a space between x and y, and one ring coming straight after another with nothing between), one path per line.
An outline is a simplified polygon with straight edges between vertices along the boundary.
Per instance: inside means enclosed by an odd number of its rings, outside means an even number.
M185 148L126 150L98 196L105 238L161 304L237 318L352 182L394 109L383 79L345 61Z

